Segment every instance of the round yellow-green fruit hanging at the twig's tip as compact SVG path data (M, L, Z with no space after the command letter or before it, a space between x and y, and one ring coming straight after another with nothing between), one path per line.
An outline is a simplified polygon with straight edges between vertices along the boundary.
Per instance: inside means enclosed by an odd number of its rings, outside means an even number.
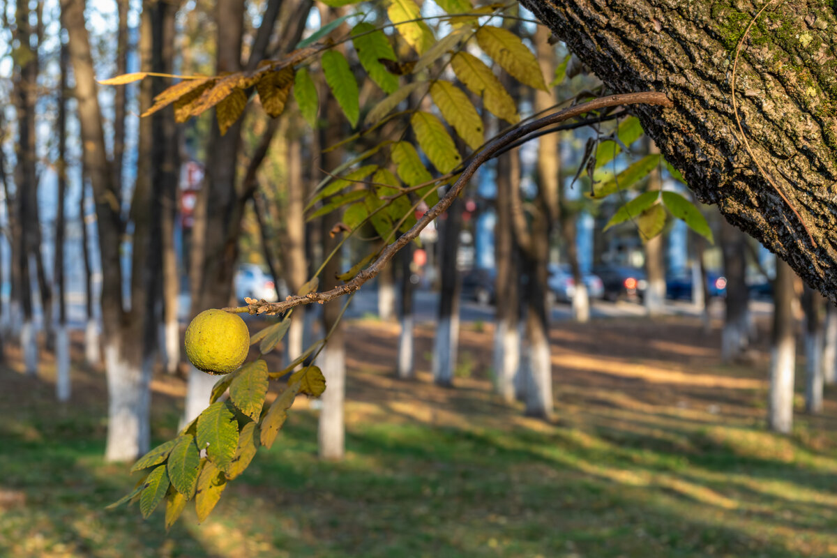
M250 332L238 314L203 310L186 328L186 356L208 374L239 369L250 348Z

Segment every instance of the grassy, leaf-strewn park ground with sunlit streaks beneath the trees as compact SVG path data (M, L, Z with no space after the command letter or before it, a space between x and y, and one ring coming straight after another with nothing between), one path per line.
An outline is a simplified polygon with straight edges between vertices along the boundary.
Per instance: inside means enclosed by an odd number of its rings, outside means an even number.
M391 377L397 328L354 322L347 458L316 458L299 397L270 451L228 485L203 525L162 510L103 509L133 486L105 464L105 387L74 370L74 400L0 370L0 556L829 556L837 555L837 397L764 431L767 357L721 366L717 332L667 318L552 331L557 417L490 395L490 326L463 332L455 389ZM75 347L76 352L79 347ZM278 366L278 365L277 365ZM801 385L802 367L798 378ZM157 376L156 441L182 381Z

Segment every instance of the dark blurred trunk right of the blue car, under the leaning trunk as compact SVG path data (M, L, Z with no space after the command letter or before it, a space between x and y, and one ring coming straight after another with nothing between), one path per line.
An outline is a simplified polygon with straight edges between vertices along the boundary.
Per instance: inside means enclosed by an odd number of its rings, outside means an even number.
M747 289L747 237L726 221L721 223L721 253L727 278L726 314L721 332L721 360L742 357L750 346L750 290Z

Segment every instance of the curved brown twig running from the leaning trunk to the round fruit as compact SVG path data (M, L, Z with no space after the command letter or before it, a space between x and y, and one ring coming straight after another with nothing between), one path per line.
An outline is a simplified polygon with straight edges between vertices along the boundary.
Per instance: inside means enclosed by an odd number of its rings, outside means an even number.
M503 136L490 141L485 148L483 148L482 151L480 151L470 161L468 166L465 167L465 170L462 171L459 179L457 179L454 186L448 190L444 197L442 197L442 199L440 199L433 207L430 207L428 212L424 213L422 218L420 218L419 221L413 225L413 228L410 228L406 233L403 233L393 243L388 244L387 248L383 249L375 262L367 267L367 269L362 270L351 281L337 286L334 289L323 292L309 293L304 296L289 296L283 302L265 302L264 300L259 300L249 302L249 305L247 306L224 308L223 310L236 313L249 312L249 314L273 315L280 314L285 312L285 310L299 305L310 305L313 302L323 304L336 299L343 294L350 294L357 291L357 289L361 288L362 284L366 283L369 279L374 278L378 273L380 273L381 269L383 269L383 267L388 264L391 259L393 259L395 254L398 253L398 250L403 248L414 238L418 237L419 233L421 233L421 231L424 230L429 223L439 217L439 215L443 212L447 211L450 204L453 203L454 199L460 195L460 192L462 192L463 188L465 188L465 185L470 181L471 177L474 176L477 169L479 169L485 161L489 161L498 151L501 151L504 147L519 140L521 137L527 136L533 131L540 130L546 126L563 122L564 120L574 118L578 115L583 115L591 110L598 110L604 107L618 105L660 105L663 107L671 107L674 106L674 103L672 103L668 97L665 96L665 93L659 93L656 91L628 93L624 95L608 95L607 97L591 100L587 103L583 103L582 105L575 105L552 115L545 116L541 119L533 120L527 125L515 128Z

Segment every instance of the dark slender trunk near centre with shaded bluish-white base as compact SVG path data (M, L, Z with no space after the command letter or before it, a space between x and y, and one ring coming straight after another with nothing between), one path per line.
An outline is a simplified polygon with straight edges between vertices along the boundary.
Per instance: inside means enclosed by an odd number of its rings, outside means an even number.
M433 349L433 380L439 386L451 387L460 339L460 272L456 269L462 229L462 198L450 205L442 222L439 237L442 282L439 296L439 319Z

